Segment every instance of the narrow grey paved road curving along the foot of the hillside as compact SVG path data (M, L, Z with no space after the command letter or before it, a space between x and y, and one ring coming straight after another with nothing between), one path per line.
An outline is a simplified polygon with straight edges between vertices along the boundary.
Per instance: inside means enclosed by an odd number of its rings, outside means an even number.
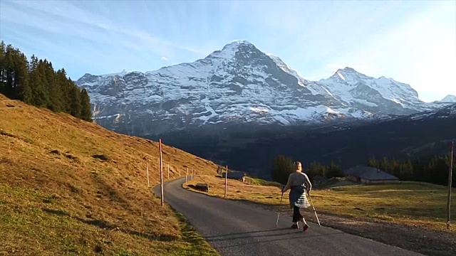
M293 230L288 215L280 215L276 228L277 212L187 191L183 182L185 178L164 184L165 202L184 214L222 255L420 255L309 221L308 232ZM160 198L160 186L153 191Z

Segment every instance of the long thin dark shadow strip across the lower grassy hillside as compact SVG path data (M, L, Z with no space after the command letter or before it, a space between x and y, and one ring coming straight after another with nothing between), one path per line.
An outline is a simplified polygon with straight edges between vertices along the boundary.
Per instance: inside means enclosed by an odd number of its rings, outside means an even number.
M42 208L42 210L46 213L50 213L53 215L66 216L66 217L72 218L74 220L79 220L82 223L86 223L88 225L94 225L95 227L98 227L98 228L103 228L103 229L108 229L108 230L118 230L118 231L126 233L128 235L135 235L140 238L146 238L150 241L170 242L170 241L175 241L175 240L179 239L174 235L163 235L163 234L159 234L159 233L144 233L144 232L139 232L136 230L130 230L128 228L120 228L120 227L118 227L118 225L113 225L111 223L108 223L105 220L83 219L83 218L79 218L78 216L71 216L69 213L66 213L63 210L54 210L54 209L49 209L49 208Z

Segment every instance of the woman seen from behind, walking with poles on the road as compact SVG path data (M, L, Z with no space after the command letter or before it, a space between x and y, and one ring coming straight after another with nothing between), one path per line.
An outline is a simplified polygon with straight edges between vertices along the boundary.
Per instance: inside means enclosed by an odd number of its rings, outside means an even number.
M304 223L303 231L306 232L309 225L307 225L306 220L299 212L299 209L308 208L310 206L309 201L307 201L306 191L307 193L311 191L312 184L311 181L309 181L309 177L301 172L301 162L296 161L293 166L296 171L288 176L288 182L286 183L286 186L282 188L282 193L291 189L289 194L290 206L293 208L293 225L291 225L291 228L299 228L298 222L301 220Z

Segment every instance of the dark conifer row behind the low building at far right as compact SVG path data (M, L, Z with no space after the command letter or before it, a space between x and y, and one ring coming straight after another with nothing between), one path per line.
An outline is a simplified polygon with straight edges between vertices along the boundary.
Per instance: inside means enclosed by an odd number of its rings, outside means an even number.
M453 159L453 163L456 159ZM425 156L416 159L398 161L397 159L368 159L368 166L388 172L401 181L423 181L438 185L448 185L448 171L450 170L450 154ZM452 186L456 187L456 167L453 164Z

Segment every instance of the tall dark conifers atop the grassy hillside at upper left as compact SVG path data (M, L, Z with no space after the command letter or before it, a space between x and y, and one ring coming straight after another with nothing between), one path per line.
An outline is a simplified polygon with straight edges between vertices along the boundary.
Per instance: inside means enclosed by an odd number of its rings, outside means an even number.
M56 71L51 61L35 55L28 60L19 48L6 46L4 41L0 43L0 93L11 100L92 121L87 90L67 78L65 69Z

